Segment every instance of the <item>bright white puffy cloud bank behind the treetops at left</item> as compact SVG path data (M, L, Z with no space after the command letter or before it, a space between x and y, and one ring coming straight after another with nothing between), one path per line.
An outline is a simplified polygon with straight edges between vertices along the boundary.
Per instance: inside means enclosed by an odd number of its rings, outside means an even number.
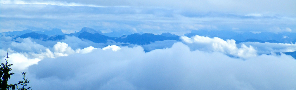
M55 45L53 45L52 48L44 49L44 46L36 44L36 42L30 41L30 38L24 38L20 41L22 42L17 43L12 41L10 45L11 47L7 49L9 56L11 56L11 58L9 58L9 62L14 64L12 69L15 69L16 71L26 70L30 65L37 64L39 61L46 58L57 58L62 56L68 56L75 53L86 54L92 52L94 49L97 49L93 46L89 46L84 49L78 48L76 50L73 50L70 46L68 46L68 44L64 42L57 42ZM33 49L31 48L32 46L34 47ZM15 51L15 49L17 49L17 51ZM113 49L119 50L120 47L112 46L112 50ZM7 55L3 48L0 49L0 52L2 56ZM3 60L5 59L1 58L1 62L4 62Z

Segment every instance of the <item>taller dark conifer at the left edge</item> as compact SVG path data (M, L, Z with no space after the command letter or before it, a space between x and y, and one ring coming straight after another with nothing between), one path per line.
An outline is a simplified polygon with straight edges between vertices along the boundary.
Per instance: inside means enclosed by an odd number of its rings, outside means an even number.
M7 51L6 51L7 52ZM4 56L5 57L5 56ZM16 87L16 83L15 84L7 84L8 82L8 79L10 78L10 75L13 75L15 73L9 73L9 71L11 71L11 66L13 64L9 64L8 63L8 52L7 52L7 57L5 59L6 63L1 63L0 65L0 90L9 90L9 89L12 89L12 90L15 90L15 87Z

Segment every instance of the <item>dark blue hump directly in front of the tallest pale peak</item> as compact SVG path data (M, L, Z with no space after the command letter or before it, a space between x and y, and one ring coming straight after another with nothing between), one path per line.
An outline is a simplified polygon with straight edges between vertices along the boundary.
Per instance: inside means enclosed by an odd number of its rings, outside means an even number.
M92 34L89 32L80 33L78 38L87 39L87 40L93 41L95 43L106 43L108 40L114 40L113 37L104 36L99 33Z

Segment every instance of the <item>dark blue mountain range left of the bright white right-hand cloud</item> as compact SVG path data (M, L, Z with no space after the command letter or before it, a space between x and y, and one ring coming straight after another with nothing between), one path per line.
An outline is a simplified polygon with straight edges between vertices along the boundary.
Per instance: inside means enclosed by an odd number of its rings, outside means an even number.
M29 33L25 33L25 32L29 32ZM57 32L57 30L54 30L52 32ZM21 33L25 33L25 34L18 36ZM43 41L57 41L57 40L65 39L65 36L76 36L78 38L87 39L95 43L106 43L108 40L113 40L115 42L123 42L123 43L129 43L129 44L139 44L139 45L150 44L151 42L164 41L164 40L180 41L180 38L179 38L180 36L173 35L170 33L163 33L161 35L154 35L152 33L144 33L144 34L134 33L127 36L123 35L121 37L110 37L110 36L103 35L101 31L97 31L87 27L82 28L79 32L70 33L70 34L52 35L52 36L49 36L51 34L46 35L42 33L37 33L32 30L6 32L5 34L16 35L14 39L30 37L32 39L41 39Z

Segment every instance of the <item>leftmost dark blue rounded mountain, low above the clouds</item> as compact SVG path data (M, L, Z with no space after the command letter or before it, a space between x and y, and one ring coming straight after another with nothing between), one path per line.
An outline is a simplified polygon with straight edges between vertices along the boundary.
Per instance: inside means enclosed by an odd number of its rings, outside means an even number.
M31 37L33 39L47 39L47 38L49 38L45 34L39 34L39 33L34 33L34 32L32 32L32 33L26 33L26 34L23 34L23 35L18 36L16 38L28 38L28 37ZM14 39L16 39L16 38L14 38Z

